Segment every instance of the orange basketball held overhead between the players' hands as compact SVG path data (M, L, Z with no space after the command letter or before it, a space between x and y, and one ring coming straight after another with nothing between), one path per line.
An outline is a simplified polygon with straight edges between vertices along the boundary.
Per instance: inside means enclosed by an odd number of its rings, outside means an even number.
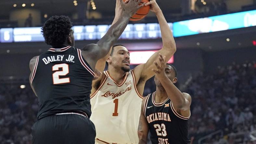
M123 0L123 1L125 1L125 0ZM143 4L143 3L148 3L148 2L149 2L148 0L141 0L141 2L140 2L139 5L141 5L141 4ZM141 7L141 8L136 12L136 14L134 14L134 15L130 18L130 20L131 20L131 21L138 21L138 20L141 20L141 19L145 18L145 17L147 16L148 12L149 12L149 9L150 9L150 6L149 6L149 5L148 5L148 6L143 6L143 7Z

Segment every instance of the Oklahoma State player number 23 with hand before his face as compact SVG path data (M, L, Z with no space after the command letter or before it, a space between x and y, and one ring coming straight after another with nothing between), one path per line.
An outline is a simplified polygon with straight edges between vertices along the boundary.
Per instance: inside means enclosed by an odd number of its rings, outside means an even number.
M148 130L152 144L189 144L188 124L191 96L182 93L173 84L177 72L173 65L165 64L159 54L160 65L155 61L156 91L144 97L138 127L139 144L147 143Z

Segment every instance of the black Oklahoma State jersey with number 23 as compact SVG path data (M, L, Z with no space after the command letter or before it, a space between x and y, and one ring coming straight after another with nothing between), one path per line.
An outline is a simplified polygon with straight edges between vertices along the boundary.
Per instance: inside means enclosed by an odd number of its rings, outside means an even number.
M156 103L155 93L149 94L144 104L152 144L189 144L189 117L178 114L169 98L162 103Z

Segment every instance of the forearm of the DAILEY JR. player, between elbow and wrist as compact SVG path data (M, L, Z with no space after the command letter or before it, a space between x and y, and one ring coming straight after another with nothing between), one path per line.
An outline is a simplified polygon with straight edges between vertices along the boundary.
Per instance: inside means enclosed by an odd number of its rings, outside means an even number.
M110 47L116 43L127 26L129 18L130 15L122 14L121 18L119 18L119 20L109 28L108 32L103 36L103 38L97 42L97 45L101 48L100 53L102 55L105 56L109 53Z

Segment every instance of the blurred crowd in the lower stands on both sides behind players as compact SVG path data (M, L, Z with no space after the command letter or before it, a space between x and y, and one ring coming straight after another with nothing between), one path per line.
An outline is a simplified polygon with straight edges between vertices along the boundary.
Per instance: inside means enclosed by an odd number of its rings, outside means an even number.
M179 71L178 71L179 74ZM31 144L31 127L36 121L38 99L29 85L0 84L0 143ZM153 78L144 95L155 90ZM187 90L191 95L189 138L192 143L255 144L250 132L256 130L256 64L218 67L215 74L198 74Z

